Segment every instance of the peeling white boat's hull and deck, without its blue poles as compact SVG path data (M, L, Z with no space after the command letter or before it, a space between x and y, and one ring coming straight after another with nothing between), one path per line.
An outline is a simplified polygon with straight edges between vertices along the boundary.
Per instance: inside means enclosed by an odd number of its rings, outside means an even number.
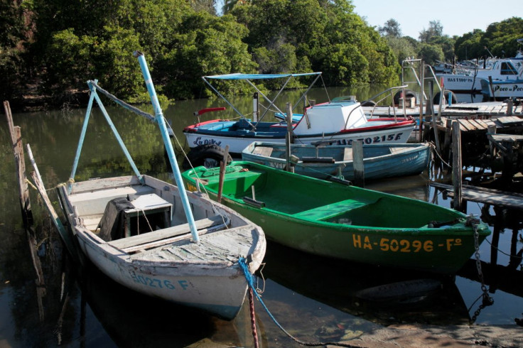
M266 248L262 229L205 195L187 192L195 218L220 217L217 219L220 222L225 218L227 224L222 226L227 228L215 225L214 229L211 226L199 229L199 234L203 234L198 244L191 241L188 227L187 232L167 236L169 229L185 228L183 222L187 221L183 218L178 187L146 175L144 180L145 185L139 185L136 177L79 182L73 184L70 194L65 187L59 188L65 216L82 254L109 278L127 288L231 320L242 307L247 292L239 257L249 260L250 273L257 270ZM168 214L173 219L181 219L182 224L110 241L102 239L101 232L93 232L98 229L97 224L89 224L94 212L99 210L97 206L105 207L106 201L114 197L144 197L144 192L149 191L171 203L173 210ZM144 210L141 212L146 214ZM154 224L153 220L150 224ZM155 234L163 235L160 238Z

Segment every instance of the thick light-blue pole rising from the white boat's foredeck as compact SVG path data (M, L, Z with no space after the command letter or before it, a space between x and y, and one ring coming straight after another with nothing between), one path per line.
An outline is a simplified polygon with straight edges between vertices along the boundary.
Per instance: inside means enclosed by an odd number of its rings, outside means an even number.
M158 97L156 96L156 90L154 89L153 80L151 79L151 74L149 73L149 67L147 67L144 53L134 51L133 55L135 58L138 58L141 72L144 75L147 91L149 92L149 97L151 97L151 103L153 104L154 118L160 127L161 136L166 147L169 162L171 163L171 168L173 168L174 179L176 180L176 185L178 185L178 190L180 191L180 198L182 200L183 210L185 210L185 216L187 217L187 222L190 227L190 234L193 236L193 242L198 243L200 242L198 229L196 228L196 224L194 222L193 212L190 210L187 192L185 192L185 187L183 186L182 175L180 174L180 168L178 168L178 163L176 162L173 144L169 138L166 121L163 119L163 112L161 111L160 103L158 102Z

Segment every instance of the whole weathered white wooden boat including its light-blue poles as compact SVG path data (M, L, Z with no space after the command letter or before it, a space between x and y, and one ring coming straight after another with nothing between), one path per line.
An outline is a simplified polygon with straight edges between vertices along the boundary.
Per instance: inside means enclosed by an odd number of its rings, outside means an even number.
M126 109L145 113L90 81L91 97L75 164L68 186L58 189L64 213L82 254L114 281L232 319L247 293L247 278L264 258L264 233L207 195L185 192L149 70L143 55L136 56L155 111L149 116L159 126L178 185L139 173L97 92ZM135 175L74 183L94 99Z

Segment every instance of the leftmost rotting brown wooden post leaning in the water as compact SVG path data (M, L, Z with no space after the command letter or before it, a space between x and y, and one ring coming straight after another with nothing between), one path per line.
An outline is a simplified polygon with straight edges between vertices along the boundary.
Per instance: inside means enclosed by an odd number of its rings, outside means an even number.
M26 161L23 156L22 133L19 126L13 125L13 115L8 101L4 101L4 111L6 112L7 126L11 135L11 146L14 153L16 178L18 178L18 188L20 189L20 207L22 219L25 227L33 224L33 212L31 211L31 199L26 181Z

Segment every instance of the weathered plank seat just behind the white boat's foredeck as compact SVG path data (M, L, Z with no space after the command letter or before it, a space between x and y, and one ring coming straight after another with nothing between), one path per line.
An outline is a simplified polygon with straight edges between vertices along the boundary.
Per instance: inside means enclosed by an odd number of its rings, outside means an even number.
M214 217L200 219L195 221L196 229L207 229L218 224L223 224L224 219L217 215ZM227 222L227 219L225 220ZM114 246L117 249L129 251L131 247L141 246L143 244L150 244L155 241L161 241L162 239L172 238L173 236L180 236L181 234L188 234L190 232L189 224L180 224L178 226L168 227L166 229L158 229L153 232L139 234L136 236L129 236L127 238L116 239L109 241L108 244ZM136 248L139 249L139 248Z

